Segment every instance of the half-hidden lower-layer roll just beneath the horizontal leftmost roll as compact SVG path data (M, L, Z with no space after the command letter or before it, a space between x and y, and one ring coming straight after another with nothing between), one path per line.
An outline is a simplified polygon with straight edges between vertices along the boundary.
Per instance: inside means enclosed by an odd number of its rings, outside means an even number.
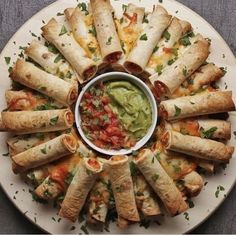
M55 132L36 133L15 136L7 140L10 156L24 152L32 147L45 143L58 136Z

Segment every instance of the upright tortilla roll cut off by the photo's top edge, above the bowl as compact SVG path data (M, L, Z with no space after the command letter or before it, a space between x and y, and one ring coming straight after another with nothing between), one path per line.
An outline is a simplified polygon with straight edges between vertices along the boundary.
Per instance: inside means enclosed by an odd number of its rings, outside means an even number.
M112 17L110 0L90 0L90 4L102 58L108 63L115 63L122 56L122 48Z

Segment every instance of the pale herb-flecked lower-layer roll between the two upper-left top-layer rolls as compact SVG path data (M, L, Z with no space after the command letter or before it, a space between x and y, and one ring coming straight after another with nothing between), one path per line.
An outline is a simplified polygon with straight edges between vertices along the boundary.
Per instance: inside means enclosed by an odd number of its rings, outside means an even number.
M50 52L48 47L41 44L39 41L33 40L30 43L30 46L25 49L25 53L47 72L56 75L67 82L77 83L78 76L70 65L65 60L58 59L61 55Z

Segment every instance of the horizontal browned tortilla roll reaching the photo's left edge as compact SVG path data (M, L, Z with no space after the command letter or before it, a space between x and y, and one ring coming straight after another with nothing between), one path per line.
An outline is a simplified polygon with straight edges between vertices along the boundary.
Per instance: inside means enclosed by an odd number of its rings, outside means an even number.
M29 134L69 129L74 123L74 116L70 109L15 111L2 112L2 120L8 130Z

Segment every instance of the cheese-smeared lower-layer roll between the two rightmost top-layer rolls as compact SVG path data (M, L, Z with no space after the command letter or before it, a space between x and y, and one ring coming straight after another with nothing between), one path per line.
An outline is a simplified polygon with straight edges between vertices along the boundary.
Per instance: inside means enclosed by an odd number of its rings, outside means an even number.
M165 122L167 124L167 122ZM184 119L165 125L166 129L171 129L182 134L198 136L208 139L231 138L231 124L224 120L215 119Z

